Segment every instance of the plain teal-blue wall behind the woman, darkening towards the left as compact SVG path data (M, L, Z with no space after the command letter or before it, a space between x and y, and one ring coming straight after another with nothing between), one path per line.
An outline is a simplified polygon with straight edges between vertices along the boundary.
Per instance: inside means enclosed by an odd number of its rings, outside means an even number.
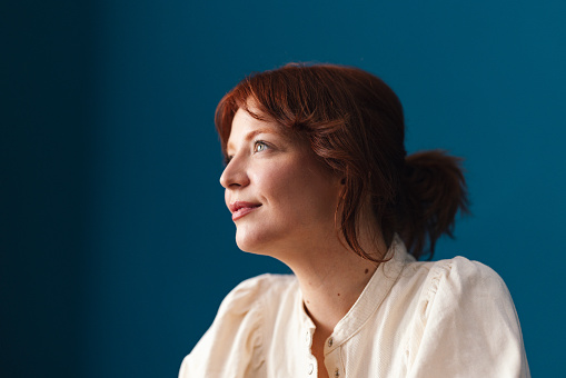
M536 377L563 376L566 2L13 1L0 9L0 376L175 377L240 252L212 116L251 71L357 66L409 151L466 158L435 259L507 282Z

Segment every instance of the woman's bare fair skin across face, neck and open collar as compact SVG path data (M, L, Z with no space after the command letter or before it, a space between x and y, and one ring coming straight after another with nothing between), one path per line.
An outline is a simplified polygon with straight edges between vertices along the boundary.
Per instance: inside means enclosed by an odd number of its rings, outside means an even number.
M336 226L342 177L318 160L306 140L242 109L234 117L227 155L220 183L236 223L236 242L294 271L316 326L318 375L328 377L324 346L377 268L347 248ZM381 257L387 247L379 232L376 236L371 211L363 211L359 219L361 247Z

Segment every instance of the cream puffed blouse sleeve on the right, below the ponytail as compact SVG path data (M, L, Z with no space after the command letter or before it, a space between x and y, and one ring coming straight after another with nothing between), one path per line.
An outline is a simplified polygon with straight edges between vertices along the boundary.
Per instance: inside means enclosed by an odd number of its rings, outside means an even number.
M502 278L458 257L437 263L409 342L409 377L530 377L517 312Z

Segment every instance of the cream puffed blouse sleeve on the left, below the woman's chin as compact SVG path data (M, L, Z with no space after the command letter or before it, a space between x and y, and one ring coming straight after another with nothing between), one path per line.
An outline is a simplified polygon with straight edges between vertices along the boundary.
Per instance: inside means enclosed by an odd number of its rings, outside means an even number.
M262 364L258 278L241 282L222 300L212 325L185 357L179 378L256 377Z

